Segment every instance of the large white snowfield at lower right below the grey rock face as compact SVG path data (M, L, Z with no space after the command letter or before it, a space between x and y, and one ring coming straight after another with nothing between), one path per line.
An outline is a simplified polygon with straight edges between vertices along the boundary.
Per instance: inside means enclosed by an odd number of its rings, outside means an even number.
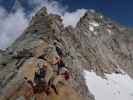
M133 100L133 80L127 74L106 74L106 80L85 70L84 77L95 100Z

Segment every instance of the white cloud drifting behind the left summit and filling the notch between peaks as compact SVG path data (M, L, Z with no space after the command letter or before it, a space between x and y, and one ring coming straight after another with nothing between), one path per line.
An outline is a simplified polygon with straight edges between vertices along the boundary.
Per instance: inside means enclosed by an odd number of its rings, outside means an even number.
M77 9L76 11L67 11L68 6L63 6L57 1L48 0L29 0L30 5L36 5L35 12L41 7L47 7L48 13L57 14L62 16L64 26L75 27L77 22L86 12L86 9Z

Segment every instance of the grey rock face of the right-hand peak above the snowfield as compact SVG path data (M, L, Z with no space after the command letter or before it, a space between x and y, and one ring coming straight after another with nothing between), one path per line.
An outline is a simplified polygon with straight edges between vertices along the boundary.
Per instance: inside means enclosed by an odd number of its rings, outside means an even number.
M99 18L97 13L89 14L85 14L76 28L76 37L81 41L79 52L86 55L89 69L102 74L119 73L122 68L132 77L132 31L107 18ZM94 31L88 28L90 23L95 23Z

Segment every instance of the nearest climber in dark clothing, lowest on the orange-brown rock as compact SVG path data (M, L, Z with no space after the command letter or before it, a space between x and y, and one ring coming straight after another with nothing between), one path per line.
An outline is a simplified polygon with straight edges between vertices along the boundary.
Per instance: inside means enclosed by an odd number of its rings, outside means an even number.
M27 80L27 83L33 89L34 94L45 92L46 95L50 94L48 82L52 75L52 70L50 69L46 60L44 60L43 56L39 56L36 61L36 71L32 80Z

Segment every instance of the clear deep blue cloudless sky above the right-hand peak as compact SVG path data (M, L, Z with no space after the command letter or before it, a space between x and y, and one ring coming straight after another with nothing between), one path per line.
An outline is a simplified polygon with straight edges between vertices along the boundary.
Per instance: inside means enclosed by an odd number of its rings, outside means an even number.
M133 0L60 0L70 10L95 9L119 23L133 27Z

